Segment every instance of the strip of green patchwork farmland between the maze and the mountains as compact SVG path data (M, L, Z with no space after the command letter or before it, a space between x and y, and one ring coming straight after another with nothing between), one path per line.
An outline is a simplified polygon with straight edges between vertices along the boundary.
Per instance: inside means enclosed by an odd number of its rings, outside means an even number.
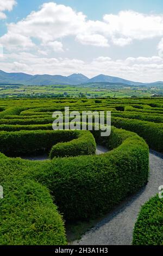
M128 86L114 83L90 83L78 86L0 85L0 98L52 97L152 97L162 96L163 87Z

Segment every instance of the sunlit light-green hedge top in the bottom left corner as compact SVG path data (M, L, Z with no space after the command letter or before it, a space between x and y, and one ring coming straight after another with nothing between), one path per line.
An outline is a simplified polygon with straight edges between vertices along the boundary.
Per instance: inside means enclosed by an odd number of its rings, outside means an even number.
M0 245L66 245L64 222L47 188L21 177L22 160L0 159Z

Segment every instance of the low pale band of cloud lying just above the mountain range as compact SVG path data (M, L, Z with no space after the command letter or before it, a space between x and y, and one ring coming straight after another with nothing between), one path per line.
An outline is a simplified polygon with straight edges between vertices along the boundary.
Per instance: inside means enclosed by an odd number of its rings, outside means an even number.
M48 58L40 54L17 52L4 54L4 58L2 60L0 58L0 65L7 72L23 71L33 75L68 76L74 72L82 72L88 77L104 74L140 82L163 81L163 59L159 56L117 60L99 56L84 62L75 58Z

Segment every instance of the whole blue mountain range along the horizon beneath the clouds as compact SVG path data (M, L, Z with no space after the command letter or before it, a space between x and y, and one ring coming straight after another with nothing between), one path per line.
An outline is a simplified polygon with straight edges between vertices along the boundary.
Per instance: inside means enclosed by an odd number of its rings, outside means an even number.
M145 83L133 82L129 80L125 80L120 77L114 76L106 76L106 75L98 75L93 78L88 78L83 74L73 74L70 76L60 76L60 75L28 75L24 73L7 73L0 70L0 84L24 84L24 85L33 85L33 86L48 86L53 84L86 84L86 83L123 83L128 86L140 86ZM163 86L163 82L154 82L148 83L151 86L155 86L159 84ZM147 85L147 83L146 83Z

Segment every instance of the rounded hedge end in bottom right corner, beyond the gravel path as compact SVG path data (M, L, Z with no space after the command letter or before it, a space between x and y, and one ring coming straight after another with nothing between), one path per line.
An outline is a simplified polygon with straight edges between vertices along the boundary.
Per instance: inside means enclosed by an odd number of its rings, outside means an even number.
M163 245L163 199L145 203L135 224L133 245Z

